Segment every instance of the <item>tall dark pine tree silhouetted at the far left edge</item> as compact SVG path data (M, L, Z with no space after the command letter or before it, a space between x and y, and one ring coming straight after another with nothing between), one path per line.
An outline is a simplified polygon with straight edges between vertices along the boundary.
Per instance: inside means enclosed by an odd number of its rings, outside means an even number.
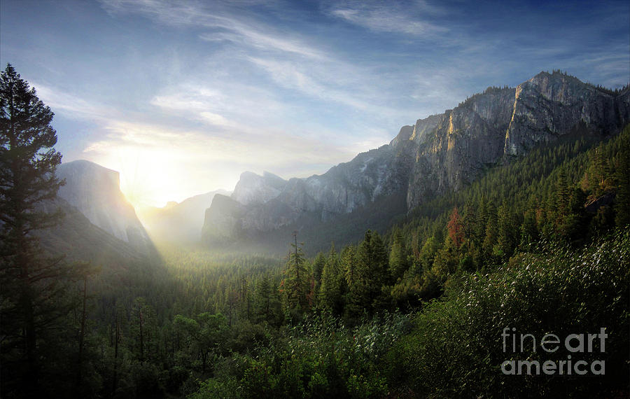
M1 73L0 109L2 393L20 389L38 396L45 365L41 338L61 330L71 305L62 288L73 269L44 255L36 236L62 217L43 207L62 186L55 176L62 155L53 148L52 111L10 64ZM10 386L16 383L22 386Z

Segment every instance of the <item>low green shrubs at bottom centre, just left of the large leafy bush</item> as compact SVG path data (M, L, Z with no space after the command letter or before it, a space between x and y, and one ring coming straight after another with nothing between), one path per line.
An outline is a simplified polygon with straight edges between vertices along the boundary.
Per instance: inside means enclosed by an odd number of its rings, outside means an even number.
M379 359L409 327L402 314L356 328L313 314L251 356L228 359L239 366L205 381L190 398L381 398L389 388Z

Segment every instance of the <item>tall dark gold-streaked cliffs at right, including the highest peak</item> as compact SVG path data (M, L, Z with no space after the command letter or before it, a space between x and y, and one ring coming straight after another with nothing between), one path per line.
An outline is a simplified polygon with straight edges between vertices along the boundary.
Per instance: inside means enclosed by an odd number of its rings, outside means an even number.
M612 95L564 73L541 72L516 88L491 87L419 123L407 207L458 190L491 165L570 134L605 136L630 121L630 91ZM419 125L416 123L416 126Z

